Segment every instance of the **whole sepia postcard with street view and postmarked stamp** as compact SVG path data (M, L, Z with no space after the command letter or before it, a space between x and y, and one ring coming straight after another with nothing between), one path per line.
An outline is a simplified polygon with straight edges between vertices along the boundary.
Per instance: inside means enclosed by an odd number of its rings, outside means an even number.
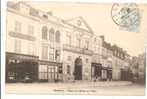
M147 4L8 1L5 93L144 96Z

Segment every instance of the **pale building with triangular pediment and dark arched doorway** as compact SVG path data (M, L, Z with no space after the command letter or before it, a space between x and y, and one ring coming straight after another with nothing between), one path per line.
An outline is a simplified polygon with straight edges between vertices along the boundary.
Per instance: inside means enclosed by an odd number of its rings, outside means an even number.
M93 32L82 17L64 22L69 29L63 34L63 78L67 80L91 79Z

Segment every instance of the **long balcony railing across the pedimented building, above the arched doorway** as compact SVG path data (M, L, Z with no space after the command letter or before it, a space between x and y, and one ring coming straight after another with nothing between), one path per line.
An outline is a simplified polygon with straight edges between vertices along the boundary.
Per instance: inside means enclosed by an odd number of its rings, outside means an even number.
M75 46L71 46L71 45L63 45L63 50L66 51L71 51L73 53L80 53L80 54L85 54L85 55L92 55L93 51L88 50L86 48L79 48L79 47L75 47Z

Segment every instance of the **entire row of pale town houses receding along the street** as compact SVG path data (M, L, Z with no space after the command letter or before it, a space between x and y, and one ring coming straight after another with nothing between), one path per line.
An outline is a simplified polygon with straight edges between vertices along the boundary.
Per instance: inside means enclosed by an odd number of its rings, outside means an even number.
M63 20L25 2L8 2L6 17L6 82L128 80L130 55L83 17Z

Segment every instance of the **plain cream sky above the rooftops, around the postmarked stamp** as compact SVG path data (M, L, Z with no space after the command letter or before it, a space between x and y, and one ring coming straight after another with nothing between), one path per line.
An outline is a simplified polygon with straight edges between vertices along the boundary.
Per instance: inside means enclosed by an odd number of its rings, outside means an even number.
M104 35L105 40L126 50L131 56L145 52L147 45L147 5L138 4L141 24L138 32L126 31L114 23L111 16L113 4L27 2L31 6L52 11L54 16L68 20L82 16L96 35Z

